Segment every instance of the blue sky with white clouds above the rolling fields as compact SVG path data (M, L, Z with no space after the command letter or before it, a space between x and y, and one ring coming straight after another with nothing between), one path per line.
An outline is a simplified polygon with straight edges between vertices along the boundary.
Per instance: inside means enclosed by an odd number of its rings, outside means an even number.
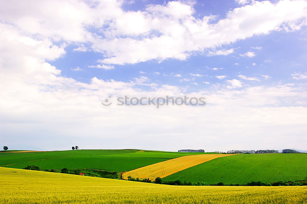
M306 39L305 0L1 1L0 145L305 150Z

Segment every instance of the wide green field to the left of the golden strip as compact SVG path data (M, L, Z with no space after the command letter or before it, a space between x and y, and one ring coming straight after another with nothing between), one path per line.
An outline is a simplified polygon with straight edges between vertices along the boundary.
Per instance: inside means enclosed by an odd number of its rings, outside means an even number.
M0 166L22 169L37 165L41 169L99 169L130 171L153 163L195 153L142 150L69 150L47 152L1 152Z

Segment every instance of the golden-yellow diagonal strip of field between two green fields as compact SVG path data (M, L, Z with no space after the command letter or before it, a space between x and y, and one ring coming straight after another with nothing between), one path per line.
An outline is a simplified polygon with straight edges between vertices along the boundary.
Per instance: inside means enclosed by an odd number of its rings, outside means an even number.
M182 171L189 167L193 167L197 164L207 162L218 157L231 156L224 154L204 154L204 155L190 155L183 156L176 159L170 159L164 162L155 163L146 167L141 167L128 171L122 174L123 179L128 179L128 176L136 179L147 179L154 180L157 177L164 178L178 171Z

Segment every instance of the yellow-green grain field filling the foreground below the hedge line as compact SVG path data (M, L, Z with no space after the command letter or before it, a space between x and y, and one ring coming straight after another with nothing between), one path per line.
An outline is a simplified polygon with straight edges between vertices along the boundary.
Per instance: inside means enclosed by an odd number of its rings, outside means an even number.
M167 186L0 167L0 203L307 203L307 186Z

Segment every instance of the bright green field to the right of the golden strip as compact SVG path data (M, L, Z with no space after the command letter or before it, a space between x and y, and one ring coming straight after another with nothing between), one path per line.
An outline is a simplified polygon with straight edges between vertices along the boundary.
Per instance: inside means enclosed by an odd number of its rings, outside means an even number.
M217 158L165 177L216 184L246 184L251 181L276 182L304 180L307 154L252 154Z

